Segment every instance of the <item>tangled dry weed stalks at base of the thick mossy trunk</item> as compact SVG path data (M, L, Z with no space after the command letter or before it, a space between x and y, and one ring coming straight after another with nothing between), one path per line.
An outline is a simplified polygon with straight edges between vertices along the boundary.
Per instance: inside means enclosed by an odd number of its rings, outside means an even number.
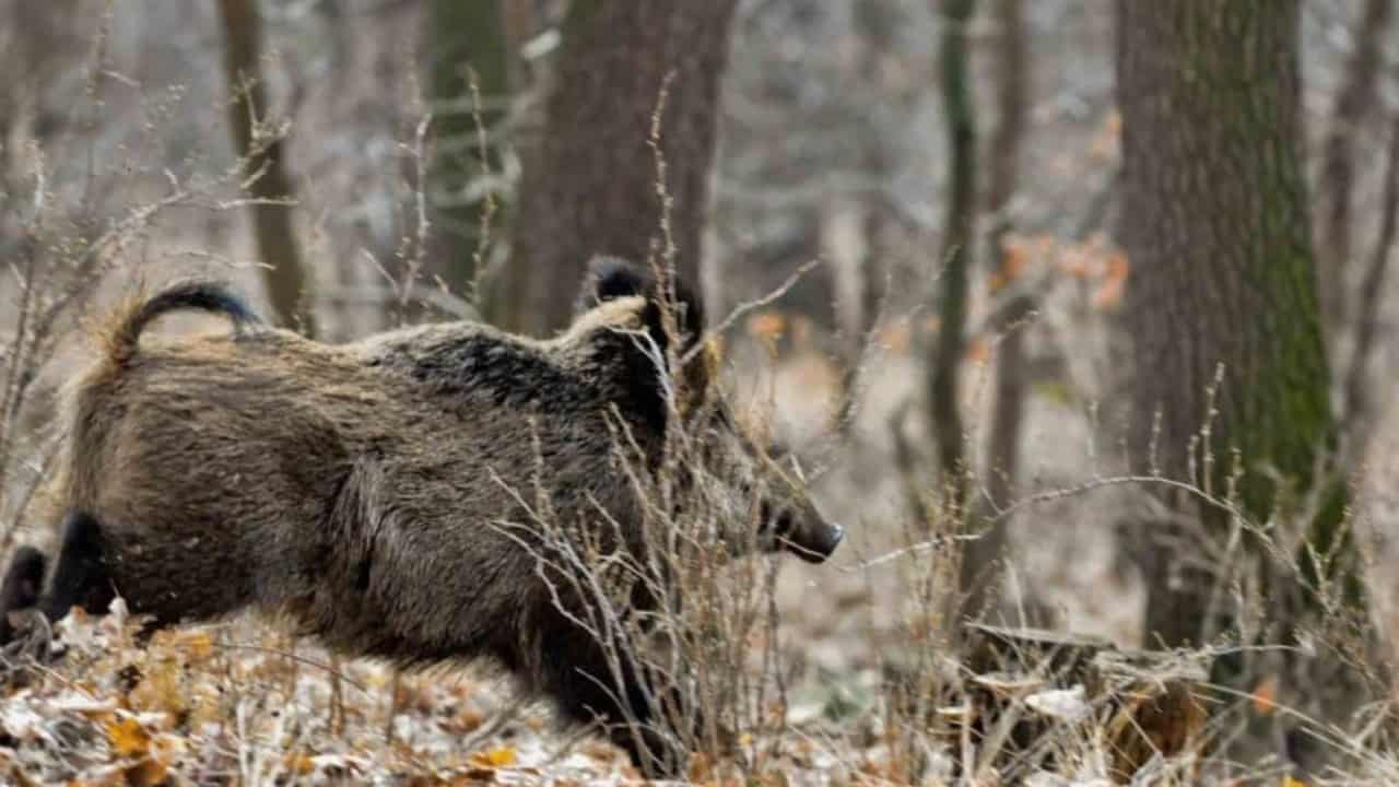
M1153 472L1146 475L1104 475L1095 469L1095 454L1090 447L1088 464L1094 468L1090 478L1010 501L992 500L992 517L1030 513L1046 503L1111 487L1135 487L1143 490L1140 504L1151 511L1149 520L1172 525L1171 529L1181 534L1178 538L1191 538L1191 548L1182 553L1192 555L1192 560L1209 571L1212 585L1209 609L1202 613L1202 644L1177 654L1182 661L1216 665L1216 674L1209 679L1200 675L1186 682L1193 686L1191 693L1195 695L1189 704L1207 707L1209 723L1192 735L1193 742L1184 749L1161 752L1142 749L1140 741L1133 744L1137 751L1129 760L1136 773L1135 783L1193 784L1200 779L1262 776L1269 769L1267 760L1256 760L1254 755L1260 727L1273 721L1294 731L1290 739L1309 741L1307 745L1322 749L1322 759L1329 767L1325 773L1330 774L1328 779L1337 779L1336 783L1349 783L1344 779L1358 773L1391 773L1392 765L1384 765L1382 752L1393 745L1392 668L1375 648L1370 616L1357 613L1347 602L1357 573L1365 567L1337 567L1344 555L1336 545L1325 552L1307 548L1311 522L1328 504L1328 490L1339 483L1332 464L1318 461L1318 480L1290 487L1280 496L1273 513L1259 520L1244 510L1240 487L1245 471L1269 472L1267 468L1249 468L1237 452L1227 458L1214 457L1209 448L1212 429L1213 423L1206 417L1192 440L1191 478L1165 478L1154 469L1156 462L1150 462ZM895 431L895 448L900 445L902 441ZM902 447L905 452L911 451L911 447ZM1223 485L1212 485L1207 479L1214 476L1214 466L1221 461L1228 462L1230 472L1224 475ZM908 494L914 499L909 504L914 522L905 528L905 542L845 567L846 571L862 573L902 570L902 587L908 588L905 595L912 599L901 630L901 639L909 643L908 653L886 665L886 674L893 679L884 692L887 751L877 763L880 773L895 780L950 779L949 774L956 773L971 781L992 774L997 779L1027 779L1046 769L1079 779L1112 776L1112 763L1126 756L1118 748L1122 745L1123 718L1135 718L1136 711L1130 709L1143 707L1139 699L1133 699L1139 689L1133 689L1130 681L1109 683L1107 693L1090 697L1093 702L1084 713L1091 711L1091 718L1095 718L1091 724L1055 725L1030 739L1021 732L1011 734L1034 716L1025 716L1018 710L1020 704L1032 692L1052 685L1045 683L1048 676L1055 675L1049 655L1021 654L1016 660L1018 672L996 676L997 690L1011 692L1007 695L1011 704L993 721L988 720L988 725L971 732L975 711L967 700L985 676L968 671L964 662L958 668L960 662L954 661L950 668L946 660L930 657L937 651L946 655L960 651L950 644L960 639L960 623L944 613L947 599L956 597L946 567L956 563L964 543L956 535L958 514L944 504L939 490L928 490L918 482L922 473L907 457L902 472ZM1214 510L1227 520L1227 538L1203 538L1198 520L1206 510ZM1346 511L1343 529L1346 534L1357 529L1353 508ZM1321 613L1300 618L1298 611L1308 608ZM1216 625L1227 619L1238 622L1237 630ZM1290 623L1293 620L1301 620L1301 627ZM943 637L940 641L937 634ZM1226 668L1223 672L1221 665ZM1263 676L1265 681L1240 686L1228 681L1237 675ZM1164 672L1151 671L1135 674L1133 679L1161 686L1171 681ZM1053 688L1063 690L1072 686ZM1119 714L1116 709L1121 707L1128 709L1128 716ZM1151 735L1147 738L1151 739ZM872 766L866 763L866 767ZM1340 774L1347 776L1342 779ZM1329 783L1316 773L1311 777Z

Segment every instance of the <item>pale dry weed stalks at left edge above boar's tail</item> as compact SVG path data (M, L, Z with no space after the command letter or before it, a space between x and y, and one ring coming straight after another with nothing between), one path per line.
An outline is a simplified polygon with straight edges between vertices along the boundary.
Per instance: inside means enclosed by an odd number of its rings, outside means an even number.
M134 90L154 118L172 112L183 92L171 90L144 102L134 80L122 77L106 62L105 28L97 38L90 64L84 106L97 112L105 91L113 85ZM57 445L63 440L48 426L53 391L45 385L53 361L85 318L98 307L98 294L113 276L144 279L143 246L161 220L187 211L228 213L249 206L285 204L284 200L236 197L264 174L259 157L267 146L290 133L287 123L260 122L256 144L248 157L213 174L199 169L197 155L185 155L187 167L175 171L161 162L166 143L151 119L143 126L139 144L123 146L123 157L98 160L95 126L85 137L70 136L45 141L28 140L28 171L0 172L0 190L7 210L0 228L13 238L0 245L6 308L0 311L0 553L7 552L15 534L29 524L32 504L39 501ZM85 157L78 153L85 148ZM74 155L77 153L77 155ZM81 188L71 189L70 175L59 178L64 162L84 160ZM63 182L60 182L60 179ZM164 195L134 204L116 202L116 195L152 190ZM232 265L228 260L215 262ZM48 522L41 522L41 527Z

